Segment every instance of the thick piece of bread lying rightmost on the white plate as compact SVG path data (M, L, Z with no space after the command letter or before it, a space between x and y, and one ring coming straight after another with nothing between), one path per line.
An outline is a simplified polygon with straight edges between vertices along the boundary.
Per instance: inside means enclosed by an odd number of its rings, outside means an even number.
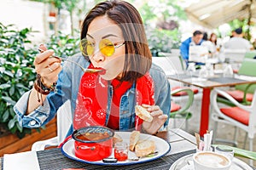
M135 154L137 157L147 156L148 154L154 153L155 144L153 140L143 140L137 142L135 146Z

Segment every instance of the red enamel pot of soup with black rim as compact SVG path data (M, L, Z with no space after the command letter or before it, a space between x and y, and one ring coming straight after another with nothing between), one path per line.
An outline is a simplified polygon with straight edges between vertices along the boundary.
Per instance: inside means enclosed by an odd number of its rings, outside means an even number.
M89 133L107 133L104 139L88 140L79 136ZM73 131L72 137L75 140L75 156L85 161L100 161L112 154L113 151L113 130L108 127L91 126L83 127Z

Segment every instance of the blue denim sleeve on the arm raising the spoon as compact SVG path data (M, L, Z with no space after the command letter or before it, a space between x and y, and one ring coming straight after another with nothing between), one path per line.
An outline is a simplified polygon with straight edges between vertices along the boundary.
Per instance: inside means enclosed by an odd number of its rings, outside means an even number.
M14 111L20 126L28 128L41 127L52 120L58 108L70 98L70 84L67 71L62 70L59 74L55 92L48 94L47 98L44 100L44 106L39 105L35 111L32 111L28 115L26 115L26 109L31 91L23 94L14 106Z

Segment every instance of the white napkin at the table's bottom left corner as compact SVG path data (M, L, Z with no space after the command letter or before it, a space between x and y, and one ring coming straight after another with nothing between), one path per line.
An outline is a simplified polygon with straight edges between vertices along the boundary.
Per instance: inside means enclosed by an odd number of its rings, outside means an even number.
M36 151L26 151L16 154L3 155L3 170L39 170L38 156Z

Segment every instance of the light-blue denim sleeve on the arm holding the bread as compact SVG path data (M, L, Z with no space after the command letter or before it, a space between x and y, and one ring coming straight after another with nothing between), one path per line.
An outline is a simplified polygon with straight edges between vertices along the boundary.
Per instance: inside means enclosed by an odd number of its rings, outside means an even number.
M168 125L170 111L171 111L171 87L166 78L165 72L157 65L152 65L150 76L154 79L154 100L155 105L159 105L160 109L165 115L168 116L167 121L164 124L165 128ZM160 130L161 130L160 129Z

